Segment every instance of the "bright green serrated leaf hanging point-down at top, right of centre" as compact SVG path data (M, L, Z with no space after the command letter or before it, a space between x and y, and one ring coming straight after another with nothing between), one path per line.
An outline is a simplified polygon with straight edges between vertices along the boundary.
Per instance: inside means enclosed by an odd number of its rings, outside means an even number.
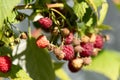
M84 1L75 2L74 6L73 6L73 10L74 10L75 14L77 15L77 17L82 20L84 14L86 13L86 8L88 8L88 7L89 6Z

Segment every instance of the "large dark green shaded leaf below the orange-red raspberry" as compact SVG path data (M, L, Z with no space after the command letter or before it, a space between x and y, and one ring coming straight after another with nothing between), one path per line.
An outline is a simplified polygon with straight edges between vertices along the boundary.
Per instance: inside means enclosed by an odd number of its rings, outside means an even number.
M28 40L25 54L26 70L33 80L55 80L54 69L48 51L36 46L35 39Z

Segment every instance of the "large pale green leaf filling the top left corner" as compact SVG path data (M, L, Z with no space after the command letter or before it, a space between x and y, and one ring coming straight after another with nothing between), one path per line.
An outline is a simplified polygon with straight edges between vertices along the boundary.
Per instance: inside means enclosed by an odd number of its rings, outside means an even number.
M19 2L20 0L0 0L0 29L4 19L11 14L11 11Z

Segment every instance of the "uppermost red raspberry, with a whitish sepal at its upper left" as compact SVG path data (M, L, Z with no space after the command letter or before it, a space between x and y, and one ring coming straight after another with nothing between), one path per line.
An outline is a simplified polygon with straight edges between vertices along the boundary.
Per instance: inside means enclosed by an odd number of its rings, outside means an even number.
M40 18L39 23L44 27L44 28L50 28L52 26L52 20L48 17Z

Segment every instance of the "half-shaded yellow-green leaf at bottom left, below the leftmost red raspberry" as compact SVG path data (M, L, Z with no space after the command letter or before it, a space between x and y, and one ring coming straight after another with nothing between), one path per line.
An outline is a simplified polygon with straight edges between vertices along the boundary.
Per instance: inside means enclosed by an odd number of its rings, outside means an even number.
M28 74L17 65L12 65L11 70L7 73L0 73L0 76L10 78L10 80L32 80Z

